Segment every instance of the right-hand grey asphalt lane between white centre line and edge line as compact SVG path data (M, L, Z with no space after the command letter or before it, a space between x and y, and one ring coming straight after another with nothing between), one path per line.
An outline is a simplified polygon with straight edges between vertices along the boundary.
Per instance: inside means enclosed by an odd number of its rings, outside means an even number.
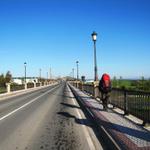
M88 150L83 124L75 112L80 107L74 105L67 92L63 83L1 120L0 150Z

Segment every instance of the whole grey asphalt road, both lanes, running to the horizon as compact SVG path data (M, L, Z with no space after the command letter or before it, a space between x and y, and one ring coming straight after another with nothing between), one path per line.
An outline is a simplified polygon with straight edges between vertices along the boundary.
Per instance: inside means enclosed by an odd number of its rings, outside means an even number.
M0 150L101 149L65 82L0 102Z

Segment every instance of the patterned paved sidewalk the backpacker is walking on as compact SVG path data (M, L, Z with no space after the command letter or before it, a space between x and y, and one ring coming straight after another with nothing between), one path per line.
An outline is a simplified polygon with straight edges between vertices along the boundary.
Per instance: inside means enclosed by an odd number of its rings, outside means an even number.
M71 86L73 93L118 149L150 150L150 132Z

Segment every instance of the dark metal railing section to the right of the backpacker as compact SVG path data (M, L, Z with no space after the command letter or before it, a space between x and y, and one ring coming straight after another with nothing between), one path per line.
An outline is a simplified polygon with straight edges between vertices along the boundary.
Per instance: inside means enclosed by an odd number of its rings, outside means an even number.
M150 123L150 92L112 89L110 103Z

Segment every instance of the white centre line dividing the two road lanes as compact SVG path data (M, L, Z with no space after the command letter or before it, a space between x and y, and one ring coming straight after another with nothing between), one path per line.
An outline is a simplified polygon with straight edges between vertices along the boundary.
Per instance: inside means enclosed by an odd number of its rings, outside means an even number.
M59 86L59 85L58 85L58 86ZM42 94L42 95L40 95L40 96L34 98L34 99L31 100L30 102L28 102L28 103L22 105L21 107L19 107L19 108L13 110L12 112L8 113L7 115L5 115L5 116L3 116L3 117L1 117L1 118L0 118L0 121L3 120L3 119L5 119L5 118L7 118L7 117L9 117L10 115L14 114L15 112L19 111L20 109L22 109L22 108L28 106L29 104L33 103L33 102L36 101L37 99L41 98L42 96L44 96L44 95L46 95L47 93L51 92L52 90L56 89L58 86L52 88L51 90L47 91L46 93L44 93L44 94Z

